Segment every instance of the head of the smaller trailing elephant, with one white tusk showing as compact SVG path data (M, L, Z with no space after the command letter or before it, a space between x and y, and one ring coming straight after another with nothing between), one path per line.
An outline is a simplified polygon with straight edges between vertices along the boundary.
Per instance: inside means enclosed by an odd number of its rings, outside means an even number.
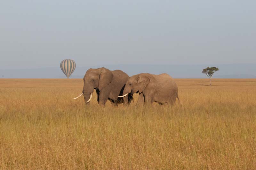
M132 77L130 77L125 84L123 96L118 97L124 97L127 96L129 93L141 93L145 89L145 87L150 82L150 76L148 74L137 74Z

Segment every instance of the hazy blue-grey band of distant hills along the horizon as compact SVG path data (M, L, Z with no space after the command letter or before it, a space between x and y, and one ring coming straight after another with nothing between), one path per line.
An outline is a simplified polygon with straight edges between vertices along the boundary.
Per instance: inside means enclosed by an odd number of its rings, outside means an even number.
M109 70L123 70L129 76L139 73L170 74L173 78L207 78L202 73L206 67L219 67L213 78L256 78L256 64L214 64L214 65L98 65L77 67L70 78L83 78L89 68L106 67ZM38 69L0 69L0 78L66 78L59 67Z

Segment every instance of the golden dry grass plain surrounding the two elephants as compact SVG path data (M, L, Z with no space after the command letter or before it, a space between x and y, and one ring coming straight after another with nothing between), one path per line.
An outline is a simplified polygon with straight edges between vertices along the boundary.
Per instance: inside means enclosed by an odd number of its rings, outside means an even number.
M176 82L182 106L99 107L82 79L0 79L0 169L255 169L256 79Z

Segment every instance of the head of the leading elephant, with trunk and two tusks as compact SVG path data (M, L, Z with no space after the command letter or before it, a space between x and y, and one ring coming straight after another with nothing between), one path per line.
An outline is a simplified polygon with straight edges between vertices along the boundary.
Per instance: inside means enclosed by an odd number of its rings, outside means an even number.
M84 94L85 103L89 103L92 99L93 89L101 91L104 87L111 83L112 79L112 72L104 67L87 70L84 75L83 92L74 99L77 99Z

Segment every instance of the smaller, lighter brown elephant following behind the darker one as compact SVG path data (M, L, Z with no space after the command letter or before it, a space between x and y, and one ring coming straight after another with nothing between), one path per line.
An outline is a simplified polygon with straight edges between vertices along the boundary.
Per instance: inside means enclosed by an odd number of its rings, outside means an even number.
M123 96L139 93L137 105L152 104L154 101L162 104L174 104L178 98L178 87L168 74L154 75L141 73L134 75L127 81Z

